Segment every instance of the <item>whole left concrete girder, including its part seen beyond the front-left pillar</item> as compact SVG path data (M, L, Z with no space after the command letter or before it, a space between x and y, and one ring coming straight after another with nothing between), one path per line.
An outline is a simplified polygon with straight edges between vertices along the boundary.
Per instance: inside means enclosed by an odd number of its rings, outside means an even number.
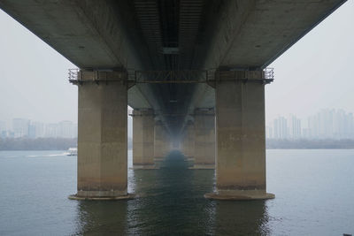
M150 69L134 9L126 1L4 0L0 8L81 69ZM130 88L128 104L161 110L149 85Z

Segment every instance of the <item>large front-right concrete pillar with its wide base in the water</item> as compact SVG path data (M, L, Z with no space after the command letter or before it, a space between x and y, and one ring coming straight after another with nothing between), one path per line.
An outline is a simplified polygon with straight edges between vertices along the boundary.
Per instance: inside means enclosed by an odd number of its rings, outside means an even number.
M216 84L217 193L219 199L267 199L263 72L220 72ZM245 80L247 79L247 80Z

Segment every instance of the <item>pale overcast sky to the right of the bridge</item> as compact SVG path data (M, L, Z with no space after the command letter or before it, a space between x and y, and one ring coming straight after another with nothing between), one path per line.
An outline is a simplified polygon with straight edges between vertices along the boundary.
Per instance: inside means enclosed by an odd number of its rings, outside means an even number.
M354 112L354 0L278 57L266 86L266 121L278 115L306 118L320 109Z

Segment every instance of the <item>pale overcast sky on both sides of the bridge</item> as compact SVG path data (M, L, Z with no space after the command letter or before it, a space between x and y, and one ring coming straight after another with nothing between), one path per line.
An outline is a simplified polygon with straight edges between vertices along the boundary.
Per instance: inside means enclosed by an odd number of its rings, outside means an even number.
M76 123L77 87L67 80L75 65L1 10L0 32L0 121ZM266 85L266 123L327 108L354 112L353 63L354 0L349 0L269 65L275 78Z

